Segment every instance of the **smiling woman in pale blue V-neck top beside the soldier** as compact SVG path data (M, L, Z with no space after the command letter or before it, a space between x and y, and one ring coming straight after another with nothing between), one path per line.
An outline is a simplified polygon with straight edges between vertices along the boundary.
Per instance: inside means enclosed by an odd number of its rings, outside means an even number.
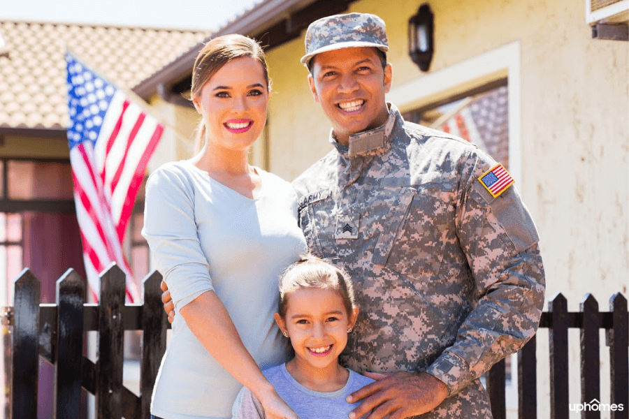
M143 235L180 314L151 412L231 418L244 385L271 418L294 419L259 368L287 361L273 320L277 278L307 249L290 184L247 163L269 96L259 45L240 35L210 41L194 64L191 93L203 147L147 183Z

